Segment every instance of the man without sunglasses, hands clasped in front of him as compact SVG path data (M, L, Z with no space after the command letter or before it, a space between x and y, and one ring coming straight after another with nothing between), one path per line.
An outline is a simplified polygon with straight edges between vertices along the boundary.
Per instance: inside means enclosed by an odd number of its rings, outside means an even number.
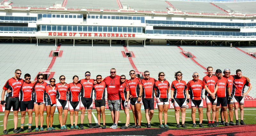
M206 117L208 120L208 126L216 127L214 124L216 115L216 104L217 104L217 89L218 89L218 78L212 74L212 67L207 68L208 75L203 78L205 88L205 99L206 99ZM212 122L211 122L211 106L212 106Z

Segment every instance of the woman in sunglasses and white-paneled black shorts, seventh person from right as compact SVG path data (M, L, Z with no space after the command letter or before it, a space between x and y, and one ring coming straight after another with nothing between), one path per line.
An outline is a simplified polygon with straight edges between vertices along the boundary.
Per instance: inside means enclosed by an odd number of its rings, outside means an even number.
M158 80L155 82L154 90L156 95L156 103L158 107L158 118L160 122L160 128L169 128L167 125L167 111L169 107L168 93L170 89L170 83L164 80L164 72L159 72ZM164 125L162 124L162 113L164 111Z

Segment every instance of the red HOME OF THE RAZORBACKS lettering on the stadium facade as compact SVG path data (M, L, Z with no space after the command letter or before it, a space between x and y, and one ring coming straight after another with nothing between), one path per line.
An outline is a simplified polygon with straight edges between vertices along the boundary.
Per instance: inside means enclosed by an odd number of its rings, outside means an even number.
M48 36L135 37L134 33L48 32Z

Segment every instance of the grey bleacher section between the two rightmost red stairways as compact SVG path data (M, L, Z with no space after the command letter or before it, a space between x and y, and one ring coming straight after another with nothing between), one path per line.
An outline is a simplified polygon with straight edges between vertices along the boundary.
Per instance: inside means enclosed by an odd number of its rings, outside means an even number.
M250 78L252 90L248 95L256 97L256 60L247 54L239 51L236 48L230 47L214 47L214 46L180 46L185 51L189 51L196 56L195 60L203 65L213 67L213 72L216 69L229 68L231 75L236 74L236 69L241 69L244 76ZM255 47L254 47L255 48ZM245 89L247 90L247 88Z

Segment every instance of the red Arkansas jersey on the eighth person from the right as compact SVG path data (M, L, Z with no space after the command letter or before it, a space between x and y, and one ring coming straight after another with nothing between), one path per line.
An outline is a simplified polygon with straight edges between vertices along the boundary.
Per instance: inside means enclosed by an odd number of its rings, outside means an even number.
M143 98L153 98L154 97L154 83L156 82L155 78L145 78L141 80L143 85L142 97Z

